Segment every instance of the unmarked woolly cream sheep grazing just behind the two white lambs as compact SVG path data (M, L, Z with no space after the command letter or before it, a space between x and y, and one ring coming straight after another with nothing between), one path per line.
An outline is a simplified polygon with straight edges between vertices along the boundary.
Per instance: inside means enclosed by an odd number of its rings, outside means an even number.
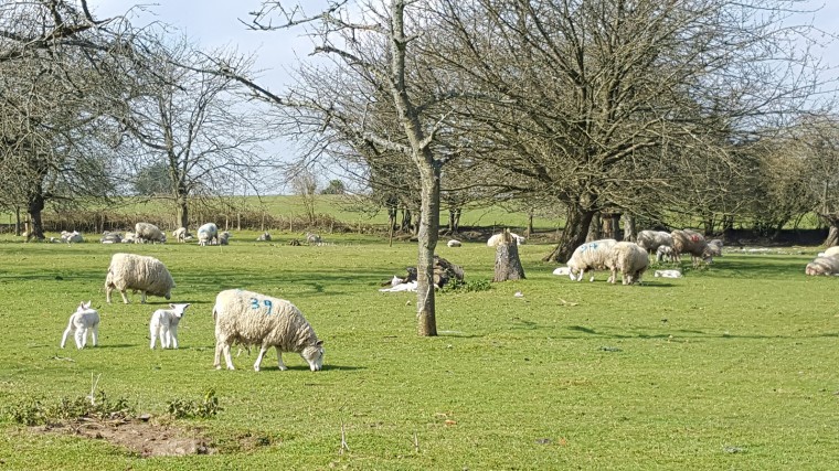
M128 304L126 289L140 291L140 303L146 302L146 295L162 296L167 300L172 296L174 280L162 261L155 257L135 254L114 254L105 278L105 292L110 303L110 292L119 290L123 302Z

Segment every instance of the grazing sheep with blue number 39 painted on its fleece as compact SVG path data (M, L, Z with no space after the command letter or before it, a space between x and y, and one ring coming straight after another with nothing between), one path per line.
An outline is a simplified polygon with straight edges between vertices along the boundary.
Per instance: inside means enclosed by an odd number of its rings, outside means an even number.
M323 366L323 341L299 309L285 299L273 298L242 289L229 289L215 297L215 363L221 370L221 354L227 370L235 370L230 349L233 343L259 345L254 371L259 371L265 352L274 346L280 371L288 370L283 363L283 352L299 353L312 372Z

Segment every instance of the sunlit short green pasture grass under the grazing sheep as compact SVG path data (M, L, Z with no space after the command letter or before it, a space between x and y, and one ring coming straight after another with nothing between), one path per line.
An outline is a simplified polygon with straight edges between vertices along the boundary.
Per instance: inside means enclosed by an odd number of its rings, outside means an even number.
M0 469L26 470L830 470L839 462L839 317L832 278L804 276L816 249L732 254L682 279L574 283L551 275L546 245L521 246L527 280L437 297L437 338L415 334L414 295L381 293L413 244L333 238L231 246L0 242ZM191 302L178 351L150 351L150 303L106 304L115 251L163 260ZM467 280L495 251L442 246ZM255 354L215 371L212 302L246 288L296 303L326 341L323 371L297 355L263 371ZM523 297L514 297L521 291ZM100 346L61 350L68 315L92 299ZM117 297L118 299L118 297ZM70 342L72 343L72 341ZM107 440L13 422L26 398L89 394L161 417L214 389L200 430L219 452L142 458ZM341 431L349 449L341 449ZM247 443L247 445L245 445ZM254 445L255 443L255 445Z

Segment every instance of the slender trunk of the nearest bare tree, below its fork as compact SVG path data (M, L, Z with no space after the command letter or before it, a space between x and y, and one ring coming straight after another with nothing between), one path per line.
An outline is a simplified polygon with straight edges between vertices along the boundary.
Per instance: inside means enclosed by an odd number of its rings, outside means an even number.
M431 153L431 151L428 151ZM422 208L417 232L418 256L416 265L416 320L421 336L437 335L434 298L434 250L439 229L439 167L420 169L422 178Z

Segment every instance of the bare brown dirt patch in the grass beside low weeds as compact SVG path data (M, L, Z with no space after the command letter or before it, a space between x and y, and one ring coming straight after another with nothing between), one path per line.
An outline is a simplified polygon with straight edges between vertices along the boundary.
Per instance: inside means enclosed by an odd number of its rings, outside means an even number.
M144 419L100 420L82 418L66 424L40 426L39 432L68 433L96 440L106 440L141 457L182 457L214 454L210 439L200 430L185 430Z

